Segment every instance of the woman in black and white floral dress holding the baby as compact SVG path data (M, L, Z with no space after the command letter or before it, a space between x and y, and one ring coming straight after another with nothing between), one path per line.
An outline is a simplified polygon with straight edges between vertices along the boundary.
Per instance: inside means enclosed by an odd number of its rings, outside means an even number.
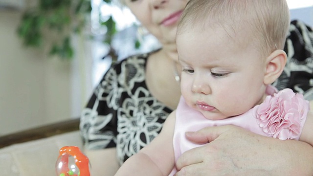
M175 37L179 17L187 2L125 0L124 4L156 36L162 48L129 57L112 66L83 110L80 128L85 152L92 165L92 176L112 176L119 164L150 143L160 132L167 115L176 108L180 97L180 70ZM295 23L291 25L291 30L297 31L291 34L298 37L298 29L309 32L303 24ZM292 47L294 35L289 38L286 49L291 57L293 48L297 47ZM305 48L303 40L298 41L301 48ZM312 60L313 54L306 54ZM274 85L277 88L293 88L292 84L298 83L293 80L298 80L295 77L299 74L292 76L291 71L299 67L312 70L305 65L306 58L289 58L285 73ZM303 66L296 66L302 63L294 60L304 60ZM298 73L307 75L302 83L309 83L313 78L308 71L300 70ZM178 176L206 173L212 176L222 173L255 175L256 172L266 176L292 176L296 171L297 175L313 175L310 165L313 162L313 147L302 142L275 140L234 126L206 128L188 133L187 137L194 142L210 143L180 157L177 165L182 170L177 173Z

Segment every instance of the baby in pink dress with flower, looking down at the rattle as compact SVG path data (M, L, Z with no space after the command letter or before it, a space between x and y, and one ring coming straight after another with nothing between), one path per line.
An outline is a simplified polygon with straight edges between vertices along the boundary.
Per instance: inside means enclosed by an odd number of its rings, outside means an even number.
M160 134L116 176L174 175L175 161L200 145L185 132L237 125L313 145L309 102L271 84L286 64L286 0L190 0L177 31L181 94Z

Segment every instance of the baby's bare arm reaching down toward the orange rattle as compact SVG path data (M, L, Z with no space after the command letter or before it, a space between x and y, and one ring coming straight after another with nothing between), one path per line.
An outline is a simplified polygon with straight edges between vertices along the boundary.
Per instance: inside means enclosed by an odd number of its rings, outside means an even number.
M128 158L115 176L168 176L175 166L173 111L164 122L162 131L146 147Z

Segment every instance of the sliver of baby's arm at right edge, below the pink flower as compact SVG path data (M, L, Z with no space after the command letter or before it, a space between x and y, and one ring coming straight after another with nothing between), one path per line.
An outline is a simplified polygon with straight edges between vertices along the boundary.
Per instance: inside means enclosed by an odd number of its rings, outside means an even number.
M307 142L313 146L313 112L309 111L307 119L305 121L300 141Z

